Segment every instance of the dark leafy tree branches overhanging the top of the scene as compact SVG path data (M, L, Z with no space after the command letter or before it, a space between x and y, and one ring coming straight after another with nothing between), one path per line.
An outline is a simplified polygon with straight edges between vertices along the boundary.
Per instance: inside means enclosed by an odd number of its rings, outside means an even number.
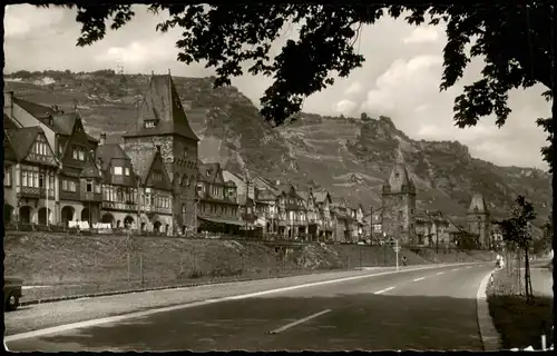
M176 43L178 60L186 65L205 62L214 68L216 87L229 85L244 75L272 77L274 82L261 98L263 117L282 125L299 112L303 99L334 83L333 73L348 77L364 58L354 51L362 24L382 17L399 18L410 24L446 23L448 42L443 50L441 90L455 86L473 57L481 57L481 77L455 99L455 122L475 126L481 117L495 115L502 126L510 113L508 92L536 83L551 98L553 17L550 1L531 4L153 4L153 13L167 19L157 30L180 28ZM67 4L74 8L76 6ZM76 20L82 24L78 46L101 40L107 22L117 30L134 17L129 4L77 6ZM300 39L287 40L271 58L270 49L289 23L300 24ZM534 119L534 118L532 118ZM551 120L537 120L553 138ZM550 162L553 150L543 155ZM551 164L550 164L551 166Z

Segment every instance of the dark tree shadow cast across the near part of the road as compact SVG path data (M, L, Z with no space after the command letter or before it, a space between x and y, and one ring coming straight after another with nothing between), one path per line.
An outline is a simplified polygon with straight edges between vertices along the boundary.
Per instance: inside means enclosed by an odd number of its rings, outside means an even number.
M270 332L331 312L278 334ZM158 313L8 344L10 350L481 350L476 299L270 296Z

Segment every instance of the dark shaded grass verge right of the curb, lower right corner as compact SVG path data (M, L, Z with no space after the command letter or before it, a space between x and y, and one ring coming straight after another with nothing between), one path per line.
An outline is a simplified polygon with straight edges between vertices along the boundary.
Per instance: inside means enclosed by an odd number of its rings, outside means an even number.
M524 281L520 281L524 283ZM524 349L532 346L541 349L541 333L547 336L547 346L553 344L551 297L536 295L532 303L527 303L520 295L517 277L506 269L495 273L494 286L487 289L489 314L501 338L501 347Z

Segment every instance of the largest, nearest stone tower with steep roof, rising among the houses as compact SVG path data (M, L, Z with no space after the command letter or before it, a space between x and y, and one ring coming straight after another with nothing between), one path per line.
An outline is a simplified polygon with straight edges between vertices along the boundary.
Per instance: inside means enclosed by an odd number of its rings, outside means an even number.
M174 230L192 228L199 139L189 126L170 73L152 76L135 127L124 135L124 140L125 150L138 156L160 145L174 189Z

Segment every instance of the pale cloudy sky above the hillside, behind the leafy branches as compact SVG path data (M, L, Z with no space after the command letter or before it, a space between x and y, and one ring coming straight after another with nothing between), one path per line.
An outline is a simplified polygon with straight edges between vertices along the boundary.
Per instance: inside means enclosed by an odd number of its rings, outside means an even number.
M118 31L108 31L102 41L90 47L76 47L80 26L76 10L41 9L30 4L6 8L4 72L17 70L92 71L117 70L128 73L166 73L207 77L213 75L204 63L186 66L178 62L175 46L179 30L156 31L167 14L154 16L145 6L136 6L136 17ZM285 27L272 52L278 53L296 29ZM305 112L370 117L390 117L412 139L458 140L470 148L473 157L500 166L536 167L547 170L540 148L546 135L536 119L549 117L550 105L540 93L541 86L511 91L512 109L507 123L497 128L494 118L483 118L472 128L453 125L453 100L465 85L473 82L482 69L481 59L473 60L465 77L448 91L440 92L442 49L447 42L441 27L412 27L403 20L384 18L364 27L355 49L367 59L349 78L309 97ZM272 79L245 75L233 80L243 93L258 106Z

